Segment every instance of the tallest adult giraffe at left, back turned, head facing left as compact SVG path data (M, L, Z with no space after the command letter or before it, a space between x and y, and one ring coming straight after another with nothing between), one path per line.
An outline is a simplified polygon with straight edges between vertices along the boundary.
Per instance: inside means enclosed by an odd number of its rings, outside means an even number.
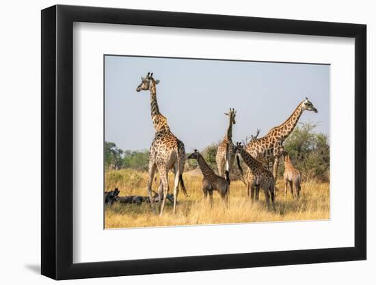
M168 186L168 172L170 169L175 174L174 182L174 213L176 211L176 200L178 198L179 184L183 188L183 192L187 195L183 181L183 172L185 164L185 148L183 141L180 141L170 131L170 127L167 124L167 118L159 112L157 102L157 88L155 85L159 83L159 80L155 80L152 77L152 73L148 72L146 77L141 77L141 84L137 87L136 91L142 90L150 91L150 109L152 116L152 124L155 130L155 137L150 146L149 154L149 171L148 171L148 195L152 211L154 211L152 203L152 180L155 174L155 170L158 169L159 176L161 176L161 183L163 187L163 200L161 205L160 215L163 214Z

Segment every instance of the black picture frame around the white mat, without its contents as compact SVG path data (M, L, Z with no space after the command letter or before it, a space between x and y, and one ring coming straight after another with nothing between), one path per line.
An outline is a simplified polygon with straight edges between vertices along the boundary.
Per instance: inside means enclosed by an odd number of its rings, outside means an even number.
M355 38L355 246L73 263L74 22ZM366 25L55 5L42 10L42 275L56 280L366 259Z

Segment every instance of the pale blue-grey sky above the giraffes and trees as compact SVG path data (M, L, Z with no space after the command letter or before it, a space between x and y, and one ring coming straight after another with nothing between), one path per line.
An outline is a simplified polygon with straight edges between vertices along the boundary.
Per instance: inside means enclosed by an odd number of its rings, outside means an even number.
M154 72L159 110L190 152L224 137L237 110L233 141L282 124L308 97L319 113L304 111L299 122L320 122L330 133L330 66L160 57L105 56L105 140L123 150L149 148L154 137L150 92L136 92Z

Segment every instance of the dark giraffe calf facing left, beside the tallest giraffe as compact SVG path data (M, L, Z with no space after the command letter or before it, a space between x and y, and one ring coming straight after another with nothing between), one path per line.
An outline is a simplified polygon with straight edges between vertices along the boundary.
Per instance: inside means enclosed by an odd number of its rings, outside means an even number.
M204 160L204 157L195 150L188 159L196 159L198 166L201 169L202 175L202 191L204 192L204 198L208 196L211 204L213 203L213 191L218 191L219 195L223 201L228 202L228 191L230 189L230 178L228 176L228 171L226 170L226 179L215 174L213 169Z

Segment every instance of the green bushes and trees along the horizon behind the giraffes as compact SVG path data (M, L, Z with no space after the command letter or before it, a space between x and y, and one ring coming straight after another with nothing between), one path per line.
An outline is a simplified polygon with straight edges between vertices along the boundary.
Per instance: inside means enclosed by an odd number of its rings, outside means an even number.
M316 127L317 124L311 122L300 123L284 142L284 148L290 154L291 160L295 167L300 170L303 178L329 181L330 145L327 135L314 131ZM201 150L202 156L215 171L217 171L217 164L215 163L217 148L218 144L211 144ZM121 150L113 142L105 141L106 169L131 168L147 171L148 159L149 150ZM196 167L195 160L186 161L186 170L196 169ZM233 177L239 178L240 173L236 163L234 163L233 172ZM280 177L284 172L283 162L281 162L278 172Z

